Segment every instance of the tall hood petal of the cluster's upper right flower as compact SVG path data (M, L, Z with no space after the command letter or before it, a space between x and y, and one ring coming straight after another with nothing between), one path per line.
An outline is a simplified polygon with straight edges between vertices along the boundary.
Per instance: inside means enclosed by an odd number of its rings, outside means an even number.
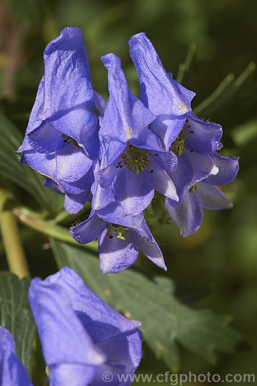
M190 111L195 93L170 79L145 33L137 33L128 44L139 77L140 99L145 106L156 115L183 115Z

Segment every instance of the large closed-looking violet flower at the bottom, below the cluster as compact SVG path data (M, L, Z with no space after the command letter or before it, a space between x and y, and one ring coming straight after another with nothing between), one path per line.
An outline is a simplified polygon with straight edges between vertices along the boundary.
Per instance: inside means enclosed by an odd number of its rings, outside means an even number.
M50 386L103 386L110 372L134 374L142 356L140 322L129 320L86 287L69 267L35 277L29 302L38 326Z

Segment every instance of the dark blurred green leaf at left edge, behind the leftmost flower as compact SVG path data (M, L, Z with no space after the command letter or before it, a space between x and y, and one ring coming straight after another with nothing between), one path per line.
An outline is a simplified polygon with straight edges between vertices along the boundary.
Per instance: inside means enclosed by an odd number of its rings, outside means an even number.
M46 208L57 209L57 203L63 200L50 189L42 185L45 177L19 162L15 151L23 141L23 136L3 113L0 112L0 173L25 190Z

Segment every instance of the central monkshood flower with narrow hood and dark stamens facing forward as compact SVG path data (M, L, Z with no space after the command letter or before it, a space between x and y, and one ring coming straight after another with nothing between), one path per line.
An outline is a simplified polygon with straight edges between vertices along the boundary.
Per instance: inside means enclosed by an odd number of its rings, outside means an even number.
M114 54L101 59L108 70L109 98L99 130L105 143L97 181L103 188L112 184L124 214L130 216L148 207L154 189L178 200L168 175L177 166L176 156L163 151L148 128L155 115L128 89L120 59Z

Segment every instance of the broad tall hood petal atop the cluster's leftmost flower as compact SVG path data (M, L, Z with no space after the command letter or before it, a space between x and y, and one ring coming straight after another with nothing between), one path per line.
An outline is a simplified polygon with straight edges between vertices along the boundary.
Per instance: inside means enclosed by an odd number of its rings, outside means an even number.
M94 103L87 47L81 30L67 27L44 51L45 84L41 119L66 112L81 103Z

